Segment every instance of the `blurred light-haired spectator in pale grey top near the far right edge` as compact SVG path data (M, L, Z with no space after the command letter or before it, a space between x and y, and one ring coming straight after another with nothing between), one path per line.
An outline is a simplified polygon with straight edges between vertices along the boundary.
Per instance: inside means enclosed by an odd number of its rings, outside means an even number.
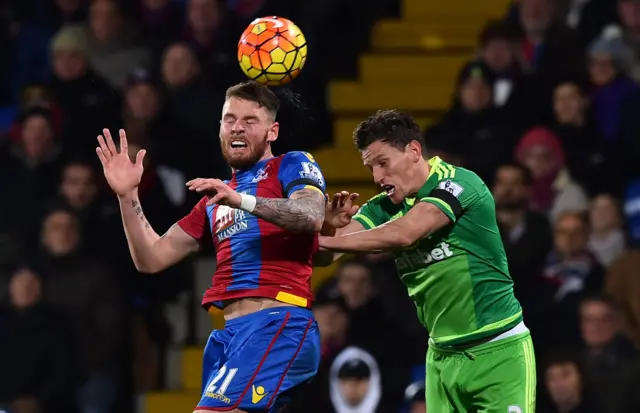
M620 202L611 195L601 194L591 201L589 249L605 268L610 267L626 248L621 213Z

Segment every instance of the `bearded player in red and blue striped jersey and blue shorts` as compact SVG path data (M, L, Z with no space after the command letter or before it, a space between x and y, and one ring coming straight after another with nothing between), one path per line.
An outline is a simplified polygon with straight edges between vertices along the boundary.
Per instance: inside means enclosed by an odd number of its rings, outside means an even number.
M230 181L187 183L204 195L162 237L144 217L137 196L144 151L120 152L109 131L98 156L117 193L131 255L142 272L158 272L213 243L217 268L205 308L223 309L226 325L205 348L202 398L206 411L276 412L318 368L320 340L310 305L312 258L325 212L325 182L313 157L275 157L278 98L247 82L227 91L221 147Z

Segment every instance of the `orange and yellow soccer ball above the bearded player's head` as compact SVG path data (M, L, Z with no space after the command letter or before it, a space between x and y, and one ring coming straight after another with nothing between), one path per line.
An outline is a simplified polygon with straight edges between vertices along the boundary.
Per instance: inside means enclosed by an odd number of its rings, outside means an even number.
M307 60L307 41L292 21L261 17L238 42L238 63L258 83L281 86L295 79Z

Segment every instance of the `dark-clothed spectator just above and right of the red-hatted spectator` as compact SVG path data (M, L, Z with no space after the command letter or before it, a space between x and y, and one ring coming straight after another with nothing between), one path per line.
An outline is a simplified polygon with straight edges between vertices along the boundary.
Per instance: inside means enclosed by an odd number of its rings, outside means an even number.
M613 154L606 149L603 134L591 116L589 99L580 85L565 82L553 93L553 131L560 139L571 177L590 194L614 191L621 182L615 174Z

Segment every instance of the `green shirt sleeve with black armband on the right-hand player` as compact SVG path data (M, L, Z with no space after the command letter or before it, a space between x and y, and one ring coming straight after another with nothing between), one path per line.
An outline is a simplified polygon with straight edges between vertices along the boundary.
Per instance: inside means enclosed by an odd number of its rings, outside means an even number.
M437 206L451 222L456 222L479 195L475 186L465 180L443 179L428 193L418 192L418 198Z

